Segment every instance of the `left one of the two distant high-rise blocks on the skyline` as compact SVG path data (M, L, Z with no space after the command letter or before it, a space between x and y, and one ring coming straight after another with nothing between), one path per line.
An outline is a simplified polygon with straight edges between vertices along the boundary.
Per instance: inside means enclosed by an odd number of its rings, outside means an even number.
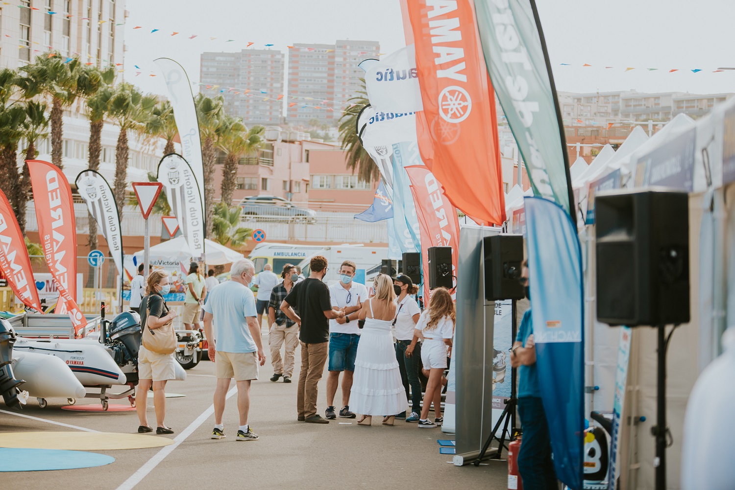
M221 95L228 114L252 124L282 123L284 54L271 49L201 54L201 93ZM219 85L219 87L216 87ZM209 88L207 88L209 87Z

